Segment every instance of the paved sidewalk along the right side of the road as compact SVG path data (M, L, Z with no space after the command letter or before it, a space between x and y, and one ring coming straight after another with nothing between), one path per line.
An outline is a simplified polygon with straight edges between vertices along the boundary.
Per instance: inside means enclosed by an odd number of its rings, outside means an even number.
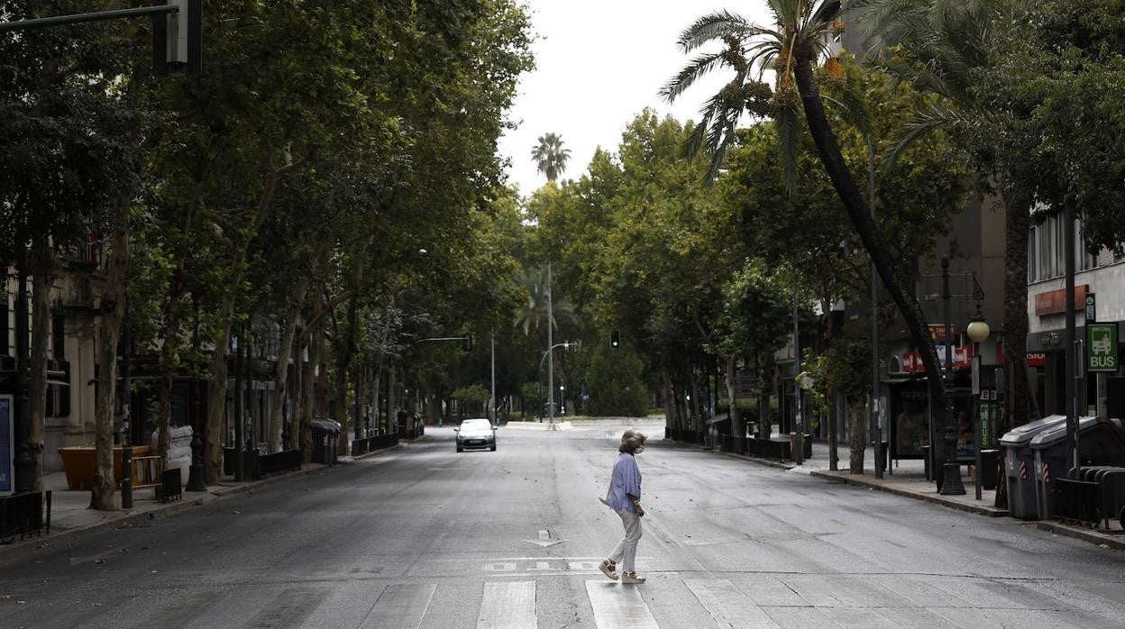
M1008 511L992 506L996 504L996 489L981 491L981 500L976 500L974 482L962 467L962 483L965 485L965 495L943 496L937 493L933 480L926 480L925 462L918 459L892 460L891 468L885 470L883 478L875 478L875 450L868 447L863 457L863 475L848 471L848 447L840 444L837 450L839 456L839 470L828 469L828 444L819 441L812 443L812 458L806 460L803 465L793 465L791 461L775 461L757 457L745 457L722 452L726 456L752 460L754 462L785 469L790 474L808 474L818 478L824 478L834 483L844 483L857 487L866 487L880 492L909 497L917 501L939 504L950 509L956 509L987 518L1008 518ZM1024 522L1023 520L1012 520ZM1125 531L1112 529L1090 529L1073 524L1064 524L1054 520L1027 521L1028 525L1048 531L1054 534L1072 537L1097 543L1101 548L1116 548L1125 550Z

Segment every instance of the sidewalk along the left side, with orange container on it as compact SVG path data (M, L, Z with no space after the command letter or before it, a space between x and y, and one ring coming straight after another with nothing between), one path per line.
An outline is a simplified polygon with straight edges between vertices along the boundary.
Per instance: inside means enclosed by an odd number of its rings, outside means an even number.
M357 459L402 448L403 444L367 452L358 457L342 456L338 465L346 465ZM169 503L155 500L152 489L133 491L133 509L129 511L96 511L90 506L90 491L71 491L66 486L66 475L52 471L43 475L44 489L51 491L51 532L39 537L17 538L15 542L0 545L0 567L21 559L27 554L39 549L74 543L79 537L90 532L108 529L125 529L155 520L168 518L186 509L209 504L224 496L251 492L267 485L286 482L296 477L316 474L331 468L323 464L302 465L299 470L274 474L260 480L235 482L231 476L224 476L217 485L208 485L206 492L183 492L183 497ZM120 507L120 492L115 492L114 498Z

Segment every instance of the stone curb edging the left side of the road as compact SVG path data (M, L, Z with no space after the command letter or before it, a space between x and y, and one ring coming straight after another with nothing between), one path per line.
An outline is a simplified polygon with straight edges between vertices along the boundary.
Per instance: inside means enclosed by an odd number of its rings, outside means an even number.
M372 450L370 452L366 452L363 455L354 457L353 460L363 459L375 455L380 455L382 452L387 452L389 450L394 450L402 447L403 444L398 443L395 446L390 446L389 448ZM346 462L344 462L343 465L346 465ZM255 480L253 483L248 483L245 485L223 487L219 489L207 491L207 492L190 492L190 493L183 492L184 494L183 498L168 504L162 504L146 511L125 512L120 516L109 518L102 520L101 522L96 522L93 524L75 527L73 529L68 529L65 531L58 531L55 533L48 533L44 536L27 537L19 541L9 543L7 546L0 546L0 566L8 566L10 564L21 561L27 556L32 555L32 552L35 550L46 550L47 548L43 547L44 543L50 543L51 548L64 547L76 542L79 538L89 533L98 533L109 529L125 529L133 527L135 524L148 522L151 520L158 520L158 519L163 520L165 518L171 518L172 515L176 515L181 511L187 511L196 506L201 506L217 498L253 492L254 489L260 489L271 483L277 483L279 480L287 480L291 478L298 478L302 476L308 476L317 471L331 469L332 467L335 466L321 465L318 467L310 467L308 469L302 469L298 471L279 474L277 476L271 476L269 478ZM214 496L214 498L208 500L207 497L208 494L210 496Z

